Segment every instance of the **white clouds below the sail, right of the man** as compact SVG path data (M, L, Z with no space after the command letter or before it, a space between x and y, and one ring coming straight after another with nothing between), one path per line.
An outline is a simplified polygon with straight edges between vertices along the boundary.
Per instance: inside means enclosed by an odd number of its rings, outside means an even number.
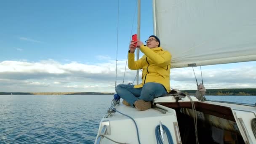
M195 69L195 68L194 68ZM226 69L203 69L203 83L207 89L215 88L256 88L256 66ZM200 68L195 69L197 82L202 83ZM196 89L192 68L171 69L171 87L180 90Z

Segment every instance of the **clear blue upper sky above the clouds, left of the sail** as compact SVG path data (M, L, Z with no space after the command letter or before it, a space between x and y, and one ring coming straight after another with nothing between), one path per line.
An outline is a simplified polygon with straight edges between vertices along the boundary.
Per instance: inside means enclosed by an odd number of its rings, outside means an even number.
M152 34L152 11L141 14L143 36ZM129 38L136 33L136 1L120 2L118 50L124 58ZM114 57L117 45L118 1L1 1L0 60L55 59L97 62L96 55ZM133 24L134 23L134 24ZM132 27L133 24L133 27ZM144 39L146 40L147 37ZM17 53L17 50L22 50Z

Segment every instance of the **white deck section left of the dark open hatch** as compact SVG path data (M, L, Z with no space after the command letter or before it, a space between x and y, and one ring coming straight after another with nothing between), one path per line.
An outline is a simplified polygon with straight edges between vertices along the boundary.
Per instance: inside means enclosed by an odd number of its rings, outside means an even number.
M164 107L167 110L167 112L164 114L156 109L138 111L133 107L128 107L123 104L119 104L115 108L117 109L117 111L122 112L125 115L129 115L135 120L138 126L139 138L140 138L141 144L157 143L155 138L155 128L157 125L159 125L160 120L162 124L165 125L171 132L174 144L177 143L176 142L177 134L174 131L175 130L174 123L176 123L178 128L175 110L170 109L168 107ZM137 139L136 126L133 123L133 120L131 120L131 118L125 115L115 112L109 115L107 118L103 118L101 120L99 132L101 132L101 129L103 128L104 121L109 121L110 126L108 128L110 130L109 132L107 132L105 136L122 143L138 144L139 142ZM177 131L179 130L177 129ZM178 133L178 136L179 136L179 133ZM179 136L179 141L180 141L180 136ZM95 141L95 144L96 142L97 141ZM168 140L166 137L165 137L165 143L168 144ZM101 140L101 144L113 144L113 142L106 138L103 138Z

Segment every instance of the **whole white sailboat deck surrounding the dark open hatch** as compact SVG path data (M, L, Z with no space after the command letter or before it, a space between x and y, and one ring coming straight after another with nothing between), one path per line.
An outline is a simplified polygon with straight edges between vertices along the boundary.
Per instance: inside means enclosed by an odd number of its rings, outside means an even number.
M216 108L219 106L230 108L230 112L232 112L234 115L235 123L237 123L237 127L239 128L245 143L256 144L256 139L253 135L253 130L251 127L251 120L256 118L256 107L240 104L229 104L218 101L198 101L194 96L191 96L191 98L195 103L211 104L211 106L216 105ZM165 96L156 98L153 102L176 103L176 100L173 96ZM190 99L186 96L184 99L179 100L180 104L182 102L190 102ZM155 137L155 128L157 125L159 125L160 120L162 124L167 126L168 130L171 132L173 143L181 143L175 110L160 104L156 104L156 106L162 110L152 108L146 111L138 111L133 107L128 107L123 104L118 104L115 108L117 111L122 112L135 120L138 126L141 144L157 143ZM136 126L133 123L133 120L125 115L118 112L106 114L101 120L97 137L101 133L104 125L108 125L107 132L104 136L121 143L138 144L139 142L137 138ZM98 139L96 139L95 144L98 144L97 140ZM113 144L114 142L104 137L101 139L100 143ZM166 136L164 144L168 144Z

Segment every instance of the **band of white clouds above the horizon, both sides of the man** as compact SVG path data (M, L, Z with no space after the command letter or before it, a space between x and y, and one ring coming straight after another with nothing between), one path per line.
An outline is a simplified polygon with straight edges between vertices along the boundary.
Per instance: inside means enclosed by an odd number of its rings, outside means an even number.
M0 62L0 91L44 92L113 92L115 91L115 63L105 61L96 64L70 62L61 64L52 59L39 62ZM123 83L126 60L117 63L117 84ZM200 68L195 68L198 83ZM124 84L132 83L136 71L126 68ZM140 76L141 77L141 71ZM256 66L226 69L203 69L203 81L207 89L256 88ZM141 80L140 82L141 83ZM171 88L196 89L192 68L171 69Z

